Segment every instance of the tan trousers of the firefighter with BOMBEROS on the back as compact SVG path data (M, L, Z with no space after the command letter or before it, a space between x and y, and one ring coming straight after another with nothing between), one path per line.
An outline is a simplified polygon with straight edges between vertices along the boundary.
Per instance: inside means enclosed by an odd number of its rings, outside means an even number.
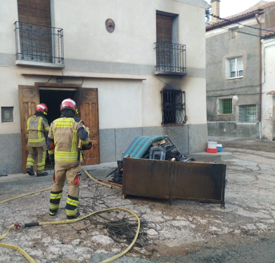
M50 212L56 212L59 209L59 202L62 197L62 190L67 178L69 192L67 196L66 213L68 216L75 215L78 206L79 185L81 183L81 164L75 166L54 165L53 186L50 197Z

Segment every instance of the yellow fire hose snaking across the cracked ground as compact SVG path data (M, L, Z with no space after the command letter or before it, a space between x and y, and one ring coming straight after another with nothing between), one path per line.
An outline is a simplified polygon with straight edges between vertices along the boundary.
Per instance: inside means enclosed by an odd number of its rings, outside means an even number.
M90 174L83 168L81 168L92 180L94 180L95 182L97 183L100 183L102 185L105 185L107 187L110 187L110 185L107 185L105 183L101 183L97 180L95 180L92 176L90 176ZM7 199L7 200L4 200L4 201L1 201L0 204L4 203L4 202L8 202L10 200L13 200L13 199L16 199L16 198L20 198L20 197L23 197L23 196L27 196L29 194L34 194L34 193L38 193L38 192L42 192L42 191L46 191L46 190L50 190L51 187L49 188L46 188L46 189L43 189L43 190L39 190L39 191L34 191L34 192L31 192L31 193L27 193L27 194L22 194L20 196L16 196L16 197L13 197L13 198L10 198L10 199ZM137 221L138 221L138 228L137 228L137 231L136 231L136 235L132 241L132 243L128 246L128 248L126 248L124 251L122 251L120 254L117 254L116 256L113 256L113 257L110 257L109 259L106 259L106 260L103 260L99 263L108 263L108 262L112 262L114 261L115 259L118 259L119 257L123 256L124 254L126 254L131 248L132 246L134 245L134 243L136 242L136 239L138 238L138 233L139 233L139 228L140 228L140 221L139 221L139 218L138 216L132 212L131 210L128 210L128 209L125 209L125 208L122 208L122 207L112 207L112 208L108 208L108 209L103 209L103 210L98 210L98 211L95 211L95 212L92 212L92 213L89 213L87 215L84 215L82 217L79 217L79 218L76 218L76 219L72 219L72 220L64 220L64 221L48 221L48 222L36 222L36 223L28 223L28 224L20 224L20 223L12 223L10 228L8 229L8 231L1 235L0 236L0 240L2 240L7 234L8 232L14 228L14 226L17 228L17 227L20 227L20 226L24 226L24 227L29 227L29 226L41 226L41 225L50 225L50 224L70 224L70 223L75 223L77 221L80 221L86 217L89 217L91 215L94 215L96 213L102 213L102 212L106 212L106 211L111 211L111 210L122 210L124 212L128 212L130 213L131 215L133 215L134 217L136 217ZM0 242L0 246L3 246L3 247L7 247L7 248L12 248L14 250L17 250L19 251L24 257L26 257L26 259L30 262L30 263L35 263L35 261L32 259L32 257L26 253L26 251L24 251L23 249L21 249L20 247L18 246L14 246L14 245L10 245L10 244L5 244L5 243L2 243Z

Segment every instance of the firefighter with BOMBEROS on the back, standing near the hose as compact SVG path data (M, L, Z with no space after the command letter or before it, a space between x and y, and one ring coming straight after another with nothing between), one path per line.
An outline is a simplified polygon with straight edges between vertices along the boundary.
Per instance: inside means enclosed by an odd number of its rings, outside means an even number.
M61 117L51 123L47 148L50 159L55 162L53 186L50 196L50 215L55 215L59 209L59 202L67 178L69 192L66 204L67 219L80 217L77 211L78 193L81 181L81 150L92 147L84 122L74 116L78 114L75 101L68 98L60 105ZM79 139L82 141L82 149L78 148Z

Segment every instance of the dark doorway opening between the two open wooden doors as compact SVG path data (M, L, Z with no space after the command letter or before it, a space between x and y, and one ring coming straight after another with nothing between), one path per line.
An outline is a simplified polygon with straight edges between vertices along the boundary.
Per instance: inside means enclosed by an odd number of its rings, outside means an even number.
M48 119L49 125L51 122L60 117L60 105L62 100L71 98L75 102L77 89L57 89L57 88L39 88L40 103L45 103L48 107Z

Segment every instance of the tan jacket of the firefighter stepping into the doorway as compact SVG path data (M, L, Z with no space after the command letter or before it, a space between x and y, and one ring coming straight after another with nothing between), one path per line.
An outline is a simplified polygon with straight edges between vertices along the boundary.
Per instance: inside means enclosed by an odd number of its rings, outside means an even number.
M29 132L28 146L30 147L46 145L45 137L48 136L50 126L47 119L41 115L40 113L35 113L27 121L27 131Z

